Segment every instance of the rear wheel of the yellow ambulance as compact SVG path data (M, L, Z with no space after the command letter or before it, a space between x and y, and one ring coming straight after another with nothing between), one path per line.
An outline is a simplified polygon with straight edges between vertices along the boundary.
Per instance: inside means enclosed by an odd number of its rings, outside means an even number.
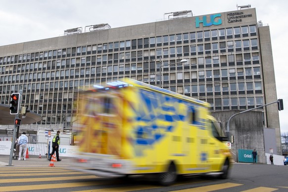
M169 186L175 183L177 179L177 171L174 163L171 163L166 172L159 174L159 183L162 186Z

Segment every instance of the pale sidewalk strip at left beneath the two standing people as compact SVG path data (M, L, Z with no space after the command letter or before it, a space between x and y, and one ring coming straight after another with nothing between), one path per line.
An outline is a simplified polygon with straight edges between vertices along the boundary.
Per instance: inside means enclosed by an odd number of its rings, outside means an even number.
M0 155L0 167L9 167L9 158L10 155ZM60 157L62 161L54 162L55 167L69 167L72 159L69 157ZM23 157L20 161L12 159L11 167L48 167L50 161L47 160L46 156L39 157L29 157L26 158L26 161L23 160Z

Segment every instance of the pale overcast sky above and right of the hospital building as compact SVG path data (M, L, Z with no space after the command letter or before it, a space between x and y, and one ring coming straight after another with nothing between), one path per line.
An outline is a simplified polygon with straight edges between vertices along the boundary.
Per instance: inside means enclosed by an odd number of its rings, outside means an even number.
M5 0L0 6L0 46L63 36L66 29L84 31L85 26L101 23L112 28L150 23L182 10L192 10L193 16L233 11L237 4L251 4L257 20L270 26L277 97L284 100L280 127L287 135L287 0Z

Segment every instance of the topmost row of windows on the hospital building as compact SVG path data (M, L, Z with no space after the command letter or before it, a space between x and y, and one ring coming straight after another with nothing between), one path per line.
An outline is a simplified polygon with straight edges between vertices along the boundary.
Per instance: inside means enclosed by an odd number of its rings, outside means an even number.
M76 55L86 55L86 54L96 54L96 53L105 53L107 50L112 51L121 51L121 50L130 50L136 48L151 48L156 46L166 46L166 45L175 45L176 44L185 44L185 43L194 43L211 41L211 40L222 40L222 39L232 39L240 37L256 36L256 26L242 26L226 29L215 29L211 31L199 31L191 32L185 34L176 34L176 35L166 35L159 37L151 38L141 38L135 40L127 40L120 42L111 42L98 45L82 46L75 48L63 48L57 50L49 50L36 53L20 54L13 56L0 57L0 65L6 63L21 63L21 62L30 62L43 59L51 58L61 58L61 56L76 56ZM247 40L236 41L235 46L239 47L240 44L243 44L243 48L248 47L246 44ZM253 40L254 41L254 40ZM233 41L232 41L233 42ZM225 42L224 42L225 43ZM222 42L223 44L223 42ZM233 44L233 43L229 43ZM251 45L254 45L254 42L251 42ZM210 45L211 46L211 45ZM214 45L215 46L215 45ZM223 45L222 45L223 46ZM221 44L220 44L221 47ZM254 46L252 46L254 47ZM213 45L212 45L213 48Z

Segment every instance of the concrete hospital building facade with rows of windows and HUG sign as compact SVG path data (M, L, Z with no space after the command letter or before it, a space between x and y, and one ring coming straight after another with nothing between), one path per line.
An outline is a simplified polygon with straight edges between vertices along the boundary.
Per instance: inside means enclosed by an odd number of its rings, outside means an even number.
M277 100L269 27L255 8L0 47L0 103L22 89L22 106L43 117L38 127L71 127L78 89L123 77L205 100L214 112ZM258 111L281 147L276 105Z

